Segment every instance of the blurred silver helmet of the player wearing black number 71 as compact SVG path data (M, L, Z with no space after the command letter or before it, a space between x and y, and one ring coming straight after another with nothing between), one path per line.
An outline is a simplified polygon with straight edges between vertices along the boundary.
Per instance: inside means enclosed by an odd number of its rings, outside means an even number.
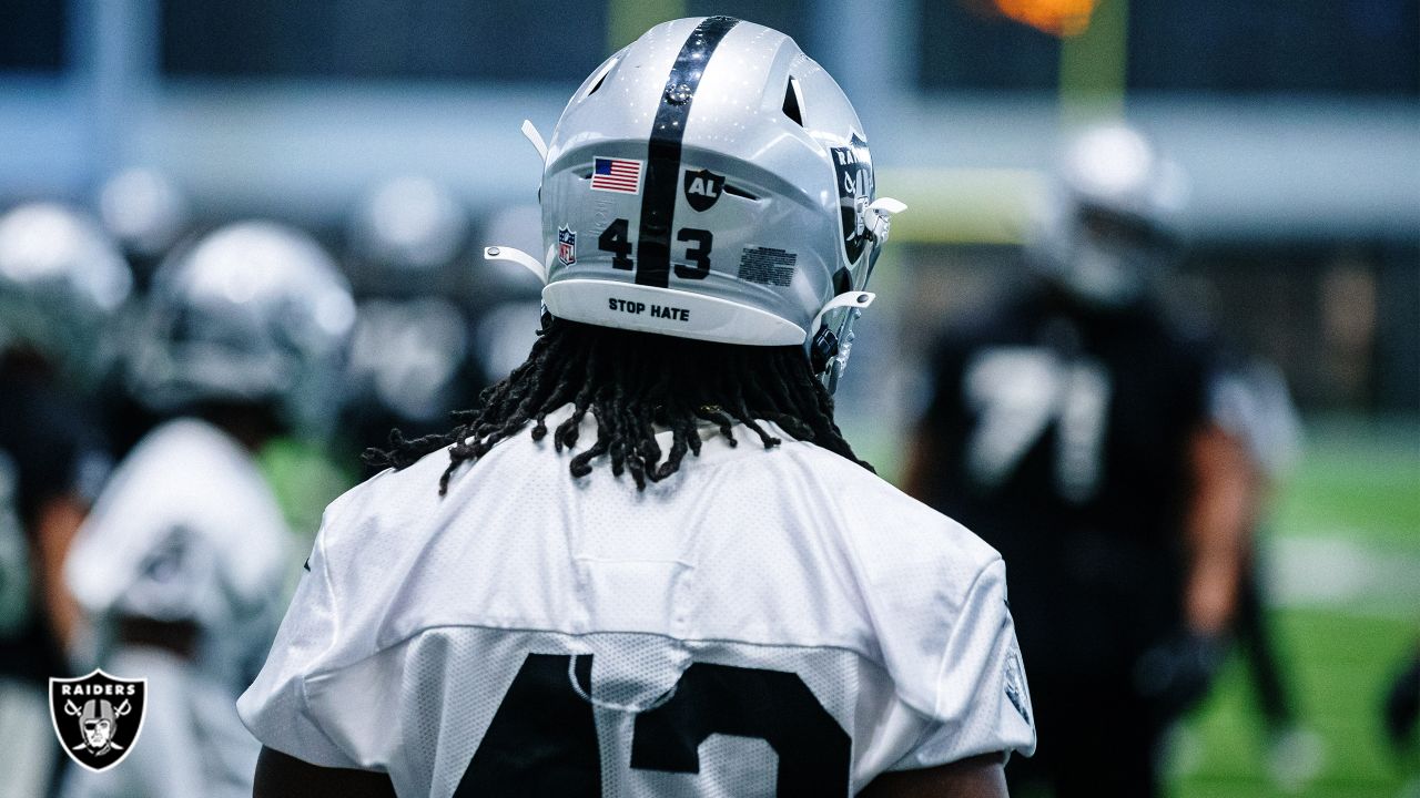
M1072 138L1035 209L1028 260L1076 298L1122 307L1179 253L1183 170L1122 125Z

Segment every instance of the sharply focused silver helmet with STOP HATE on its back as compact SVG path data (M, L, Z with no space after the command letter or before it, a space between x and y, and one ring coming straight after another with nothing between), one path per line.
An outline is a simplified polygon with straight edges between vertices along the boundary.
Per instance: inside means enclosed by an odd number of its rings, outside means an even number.
M903 206L875 202L858 115L794 40L731 17L653 27L577 89L544 166L525 264L554 317L804 344L836 379Z

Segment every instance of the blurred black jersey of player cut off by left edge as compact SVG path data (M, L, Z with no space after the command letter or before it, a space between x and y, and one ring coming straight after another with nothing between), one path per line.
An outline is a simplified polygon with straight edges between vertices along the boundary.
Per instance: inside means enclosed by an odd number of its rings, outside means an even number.
M11 557L34 561L34 534L44 505L64 496L85 503L102 487L112 461L92 415L77 399L54 388L41 373L0 362L0 534L23 537ZM18 527L18 528L16 528ZM7 562L0 578L14 578ZM36 571L30 568L31 574ZM38 585L31 578L27 612L0 632L0 674L44 683L68 666L44 618Z

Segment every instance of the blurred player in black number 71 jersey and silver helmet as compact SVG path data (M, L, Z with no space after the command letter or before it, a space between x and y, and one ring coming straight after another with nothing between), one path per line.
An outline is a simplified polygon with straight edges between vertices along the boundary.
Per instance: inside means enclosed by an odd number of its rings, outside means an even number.
M943 338L909 493L1011 564L1042 745L1012 787L1157 792L1157 743L1233 619L1248 454L1214 417L1211 346L1150 295L1183 175L1091 129L1037 217L1028 290Z

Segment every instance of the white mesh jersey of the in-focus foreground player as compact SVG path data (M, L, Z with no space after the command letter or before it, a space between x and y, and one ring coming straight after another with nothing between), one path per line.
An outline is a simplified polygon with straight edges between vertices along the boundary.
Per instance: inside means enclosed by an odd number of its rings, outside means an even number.
M376 476L327 510L241 718L439 798L848 795L1034 751L995 551L768 427L645 491L527 430L446 497L446 453Z

